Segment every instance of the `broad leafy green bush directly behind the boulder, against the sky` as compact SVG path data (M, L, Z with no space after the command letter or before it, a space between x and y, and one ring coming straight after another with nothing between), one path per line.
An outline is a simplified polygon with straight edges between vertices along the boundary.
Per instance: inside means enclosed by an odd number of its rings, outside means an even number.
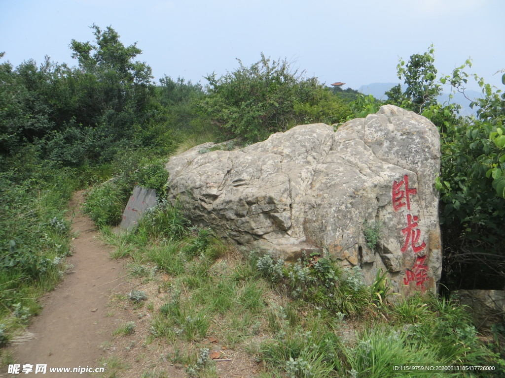
M257 142L295 124L334 123L351 114L317 78L292 71L286 60L271 60L262 53L250 67L238 62L237 70L221 78L206 77L209 97L203 105L229 137Z

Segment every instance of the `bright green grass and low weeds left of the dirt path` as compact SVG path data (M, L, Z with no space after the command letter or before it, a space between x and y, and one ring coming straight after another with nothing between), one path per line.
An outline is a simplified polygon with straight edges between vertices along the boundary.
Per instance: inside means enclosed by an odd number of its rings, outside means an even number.
M0 344L40 311L38 297L54 288L71 253L65 212L74 172L39 163L0 173Z

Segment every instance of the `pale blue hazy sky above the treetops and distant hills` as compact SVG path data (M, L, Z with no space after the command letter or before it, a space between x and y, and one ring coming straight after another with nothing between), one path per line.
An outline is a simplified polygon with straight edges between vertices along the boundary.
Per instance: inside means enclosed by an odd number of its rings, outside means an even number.
M473 59L473 72L501 85L503 0L0 0L0 51L14 66L30 58L74 66L69 43L112 26L138 42L158 80L201 81L260 59L287 58L327 85L358 89L399 82L398 58L435 46L439 74ZM470 89L478 89L474 83Z

